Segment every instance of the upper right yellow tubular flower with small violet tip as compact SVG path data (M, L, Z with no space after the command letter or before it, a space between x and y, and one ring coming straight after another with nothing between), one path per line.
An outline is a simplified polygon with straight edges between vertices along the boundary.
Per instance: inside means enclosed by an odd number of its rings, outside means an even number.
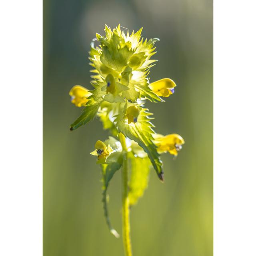
M149 84L149 88L158 96L169 97L174 93L175 82L170 78L163 78L152 84Z

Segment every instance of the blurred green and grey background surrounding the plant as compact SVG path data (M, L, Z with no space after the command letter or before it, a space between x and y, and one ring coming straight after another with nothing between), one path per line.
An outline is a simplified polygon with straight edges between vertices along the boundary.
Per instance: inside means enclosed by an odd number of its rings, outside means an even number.
M174 95L146 106L156 131L186 141L176 160L165 154L165 182L154 171L132 208L134 256L213 254L212 0L44 0L44 256L122 256L122 238L108 232L100 166L89 153L104 140L99 120L69 132L81 109L75 84L90 86L88 51L104 24L160 38L150 81L172 78ZM110 183L110 217L121 232L120 172Z

